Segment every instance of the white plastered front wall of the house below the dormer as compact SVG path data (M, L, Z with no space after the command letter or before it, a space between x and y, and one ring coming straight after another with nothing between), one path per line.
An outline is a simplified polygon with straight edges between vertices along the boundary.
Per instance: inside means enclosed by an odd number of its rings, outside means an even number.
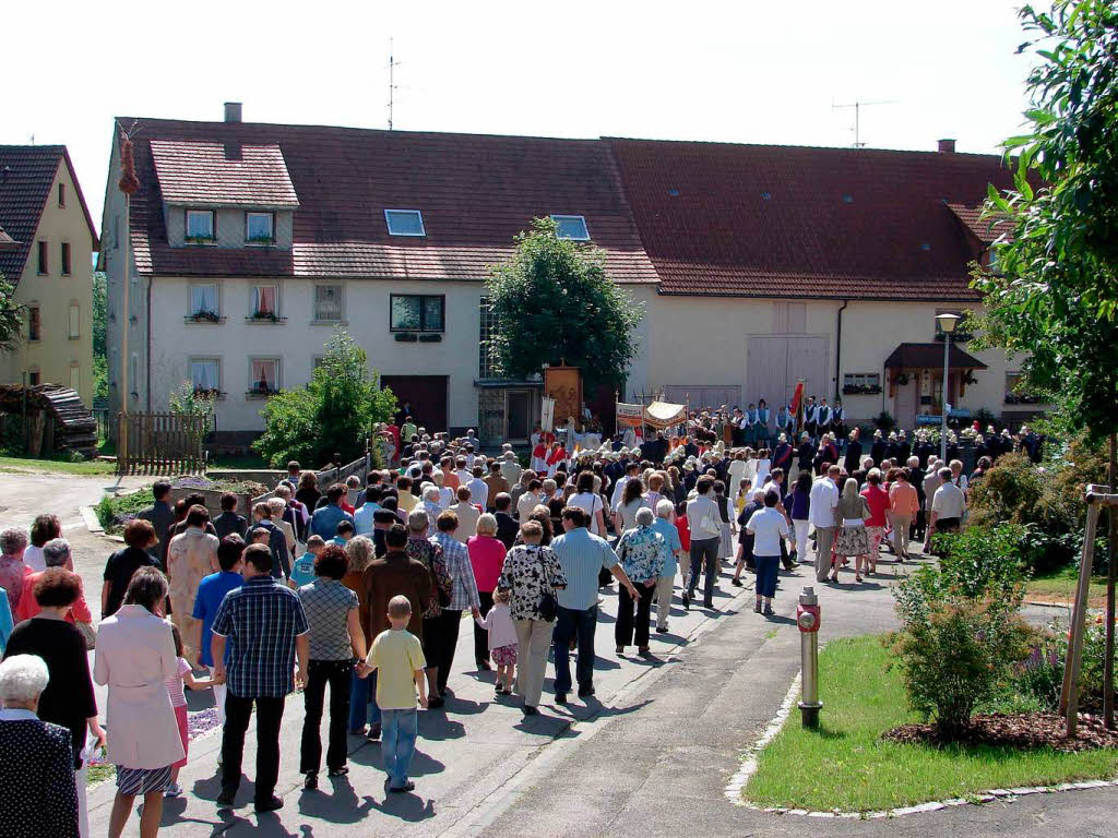
M217 427L221 431L263 430L265 400L246 394L250 359L278 358L280 384L299 387L310 380L314 360L323 354L333 325L313 321L314 286L309 279L274 280L280 286L282 323L246 321L252 286L263 280L214 279L219 285L222 323L184 322L190 286L198 279L159 277L152 298L152 409L167 408L167 394L190 378L190 359L217 358L220 389ZM339 280L329 280L337 284ZM369 365L385 375L449 377L447 418L454 427L477 422L479 302L475 282L344 280L340 324L366 350ZM446 331L439 343L402 343L389 331L390 294L446 296Z

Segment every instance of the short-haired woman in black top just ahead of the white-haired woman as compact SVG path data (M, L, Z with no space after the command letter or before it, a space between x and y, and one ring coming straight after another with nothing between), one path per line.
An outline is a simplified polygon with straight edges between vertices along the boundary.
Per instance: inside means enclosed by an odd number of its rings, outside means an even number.
M4 657L37 655L47 665L49 680L39 696L39 718L54 722L70 733L74 780L77 787L78 827L82 838L89 835L89 817L85 798L86 732L97 746L104 746L105 732L97 723L97 701L89 678L87 641L66 621L70 608L82 592L82 580L65 568L48 568L37 573L30 594L39 606L38 613L16 626L8 639Z

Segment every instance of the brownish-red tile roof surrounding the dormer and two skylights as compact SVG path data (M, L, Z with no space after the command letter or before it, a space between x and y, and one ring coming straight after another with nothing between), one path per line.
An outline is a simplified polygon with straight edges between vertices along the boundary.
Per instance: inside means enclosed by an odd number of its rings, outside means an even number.
M656 273L625 200L608 144L597 140L435 134L257 123L132 120L136 172L132 245L140 273L178 276L309 276L482 279L537 216L586 216L606 269L620 283ZM291 251L167 244L160 160L199 144L278 146L300 207ZM199 155L199 171L214 160ZM210 161L209 163L207 161ZM181 163L180 163L181 164ZM192 165L192 163L191 163ZM201 180L205 180L202 178ZM172 177L172 194L187 181ZM115 184L110 184L115 189ZM391 237L385 209L423 211L427 236Z

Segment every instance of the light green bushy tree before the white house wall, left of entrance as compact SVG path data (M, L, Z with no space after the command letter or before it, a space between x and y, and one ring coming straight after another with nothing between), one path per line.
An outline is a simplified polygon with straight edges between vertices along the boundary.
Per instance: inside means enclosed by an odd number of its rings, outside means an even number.
M357 459L373 425L396 410L396 397L380 389L364 350L344 330L334 332L325 352L307 384L273 396L260 411L265 429L253 447L273 467L297 459L316 468L335 453L343 461Z

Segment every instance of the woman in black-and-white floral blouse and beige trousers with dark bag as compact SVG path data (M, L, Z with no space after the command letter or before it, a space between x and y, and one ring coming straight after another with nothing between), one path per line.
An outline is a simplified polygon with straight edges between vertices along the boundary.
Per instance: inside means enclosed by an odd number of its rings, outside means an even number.
M551 623L559 609L555 591L567 587L555 551L540 544L542 536L538 521L525 521L520 527L524 543L509 551L498 581L498 590L509 592L509 610L517 627L515 692L523 696L528 716L539 713Z

